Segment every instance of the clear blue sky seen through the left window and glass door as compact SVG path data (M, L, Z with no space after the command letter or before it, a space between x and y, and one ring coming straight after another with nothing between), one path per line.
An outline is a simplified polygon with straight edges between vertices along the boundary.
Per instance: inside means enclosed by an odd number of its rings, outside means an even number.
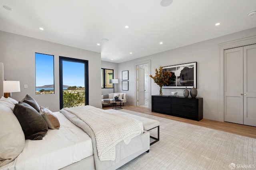
M84 64L63 61L63 85L84 87ZM54 57L36 53L36 87L54 84Z

